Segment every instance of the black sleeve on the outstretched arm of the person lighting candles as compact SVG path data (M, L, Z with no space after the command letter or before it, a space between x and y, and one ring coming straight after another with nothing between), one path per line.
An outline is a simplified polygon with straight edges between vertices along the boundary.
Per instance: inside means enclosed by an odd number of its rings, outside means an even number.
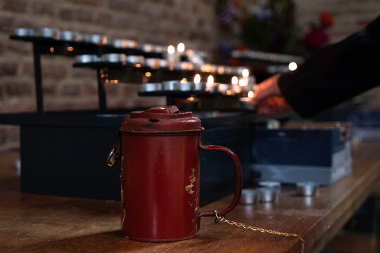
M282 74L279 89L302 117L380 84L380 16L343 41L326 46L298 70Z

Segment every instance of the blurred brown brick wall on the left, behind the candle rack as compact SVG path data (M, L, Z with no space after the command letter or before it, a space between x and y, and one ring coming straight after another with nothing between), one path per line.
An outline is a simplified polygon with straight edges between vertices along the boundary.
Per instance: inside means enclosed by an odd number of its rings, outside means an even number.
M212 51L215 0L0 0L0 113L34 112L32 46L8 39L15 27L58 27L110 39L177 44ZM43 56L45 110L94 109L96 73L72 67L73 58ZM165 103L139 98L135 84L106 86L109 108ZM0 126L0 150L18 146L18 127Z

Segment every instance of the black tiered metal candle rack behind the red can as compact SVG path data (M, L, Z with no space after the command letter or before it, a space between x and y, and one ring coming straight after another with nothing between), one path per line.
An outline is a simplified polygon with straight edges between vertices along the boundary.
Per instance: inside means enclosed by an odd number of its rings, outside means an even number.
M118 169L109 169L106 156L109 148L119 142L117 129L130 110L108 110L106 106L105 75L120 82L141 82L149 71L156 79L169 80L186 77L192 79L195 70L171 70L150 68L128 63L74 63L74 67L91 67L97 72L99 110L91 112L45 112L42 92L42 55L77 56L81 54L125 53L151 58L161 58L160 53L146 53L137 48L115 48L109 45L81 41L60 41L42 37L19 37L11 39L32 42L37 112L0 115L0 124L20 125L21 190L26 193L68 195L120 199ZM203 73L205 77L207 73ZM231 78L228 74L215 74L219 82ZM167 96L167 102L186 96L208 96L215 99L222 94L204 92L152 92L140 96ZM227 96L226 96L227 98ZM136 109L136 108L135 108ZM243 165L244 183L250 181L249 160L251 150L251 124L265 118L252 112L196 112L206 131L203 143L225 145L239 155ZM220 154L201 153L201 205L232 193L234 176L229 171L228 157ZM224 167L226 168L224 170ZM215 177L217 175L217 177Z

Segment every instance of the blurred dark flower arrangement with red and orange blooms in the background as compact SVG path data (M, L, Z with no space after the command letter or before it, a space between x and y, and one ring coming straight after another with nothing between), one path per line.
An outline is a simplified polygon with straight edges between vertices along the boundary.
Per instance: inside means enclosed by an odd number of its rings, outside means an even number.
M326 29L334 25L328 11L310 24L303 36L294 22L296 0L219 0L220 52L238 48L308 56L329 41Z

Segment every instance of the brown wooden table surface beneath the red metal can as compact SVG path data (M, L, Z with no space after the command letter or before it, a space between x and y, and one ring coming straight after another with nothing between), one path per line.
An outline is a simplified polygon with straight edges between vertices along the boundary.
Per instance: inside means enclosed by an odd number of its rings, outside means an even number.
M294 187L284 188L278 202L239 205L226 218L298 233L305 252L319 252L379 181L379 150L380 143L356 145L353 174L319 188L316 197L297 197ZM119 202L20 193L13 165L17 157L17 152L0 154L0 252L300 252L297 238L214 223L213 217L202 218L195 239L127 240L120 235ZM201 209L225 207L230 199Z

